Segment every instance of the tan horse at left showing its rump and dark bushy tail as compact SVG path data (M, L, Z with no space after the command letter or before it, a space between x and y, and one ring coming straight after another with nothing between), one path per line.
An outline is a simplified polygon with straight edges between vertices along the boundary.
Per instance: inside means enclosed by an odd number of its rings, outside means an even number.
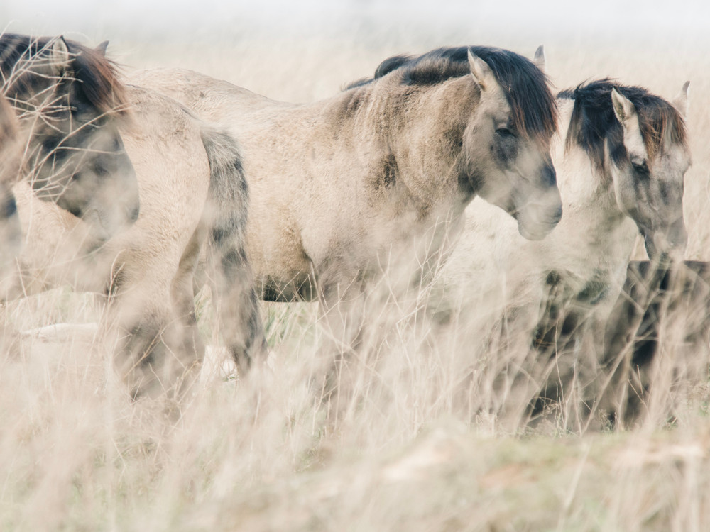
M204 357L192 292L202 253L222 338L242 365L266 353L243 248L248 187L239 146L228 133L166 96L124 87L131 123L120 133L138 179L141 214L87 255L81 243L88 223L40 201L20 182L14 188L26 228L20 262L40 287L69 281L77 290L106 294L104 328L121 336L114 360L131 396L179 398Z

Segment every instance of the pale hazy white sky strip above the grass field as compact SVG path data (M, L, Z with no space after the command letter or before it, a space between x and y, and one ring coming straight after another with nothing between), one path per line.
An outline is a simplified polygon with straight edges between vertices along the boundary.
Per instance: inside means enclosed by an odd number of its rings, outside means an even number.
M0 26L21 33L138 33L208 30L229 25L283 31L337 28L365 19L373 25L475 21L528 32L604 31L709 33L706 0L1 0Z

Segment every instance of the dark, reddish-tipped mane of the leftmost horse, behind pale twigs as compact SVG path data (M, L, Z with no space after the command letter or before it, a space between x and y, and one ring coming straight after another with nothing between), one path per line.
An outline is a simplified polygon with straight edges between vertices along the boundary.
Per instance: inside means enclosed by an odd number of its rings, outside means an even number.
M45 60L56 39L4 33L0 35L0 74L7 96L31 95L40 74L33 72L32 62ZM118 79L118 67L103 53L74 40L65 39L72 56L72 77L80 82L80 90L100 111L114 116L126 113L126 89Z

